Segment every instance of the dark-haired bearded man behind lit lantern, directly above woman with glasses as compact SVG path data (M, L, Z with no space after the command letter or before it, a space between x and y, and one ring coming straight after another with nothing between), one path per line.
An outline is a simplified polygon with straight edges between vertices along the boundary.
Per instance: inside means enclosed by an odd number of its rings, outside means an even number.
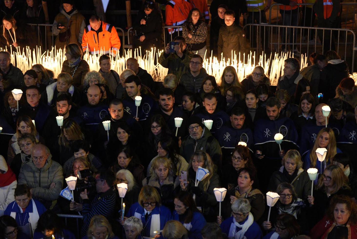
M156 113L164 117L167 126L169 126L171 130L171 134L176 134L175 118L180 117L183 121L181 127L177 130L177 137L187 135L187 114L185 114L180 107L174 105L175 97L172 89L161 88L158 91L158 95L160 109Z

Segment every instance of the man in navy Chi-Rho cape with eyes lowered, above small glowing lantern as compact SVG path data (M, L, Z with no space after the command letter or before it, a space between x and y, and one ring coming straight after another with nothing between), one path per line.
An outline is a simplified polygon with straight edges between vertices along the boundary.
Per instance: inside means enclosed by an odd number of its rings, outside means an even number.
M239 142L245 142L248 148L253 147L253 132L245 124L245 113L240 107L232 109L230 122L217 131L217 140L222 149L222 164L231 161L231 153Z

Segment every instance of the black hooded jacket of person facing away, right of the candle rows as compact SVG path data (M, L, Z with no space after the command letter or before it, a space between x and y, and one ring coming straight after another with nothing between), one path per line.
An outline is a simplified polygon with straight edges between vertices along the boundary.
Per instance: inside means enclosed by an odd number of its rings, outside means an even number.
M344 60L329 60L327 65L322 68L318 92L323 93L323 98L326 100L335 98L337 86L349 74L348 65Z

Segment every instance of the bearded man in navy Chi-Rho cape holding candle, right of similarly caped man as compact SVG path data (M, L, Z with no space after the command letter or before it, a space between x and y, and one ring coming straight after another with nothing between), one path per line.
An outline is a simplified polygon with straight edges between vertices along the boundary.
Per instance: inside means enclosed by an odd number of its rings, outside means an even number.
M270 97L267 99L266 112L268 119L259 119L254 128L254 146L257 161L259 182L263 190L267 188L267 179L270 179L272 172L281 167L281 158L290 149L298 150L297 132L294 122L290 118L279 117L281 105L279 99ZM274 136L277 133L283 135L281 148L275 142Z

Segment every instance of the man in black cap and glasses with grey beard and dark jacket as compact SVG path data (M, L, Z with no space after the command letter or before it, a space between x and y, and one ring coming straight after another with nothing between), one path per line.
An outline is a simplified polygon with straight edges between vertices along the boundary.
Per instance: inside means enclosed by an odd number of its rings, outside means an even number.
M203 150L210 155L212 161L220 168L222 164L222 151L216 138L203 125L202 120L196 116L190 117L187 125L190 135L182 139L180 155L189 162L195 151Z

